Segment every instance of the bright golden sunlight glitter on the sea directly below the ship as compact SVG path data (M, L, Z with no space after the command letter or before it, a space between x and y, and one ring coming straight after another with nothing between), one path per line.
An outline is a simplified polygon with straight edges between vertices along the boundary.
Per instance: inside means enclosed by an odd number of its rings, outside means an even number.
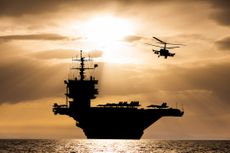
M159 153L165 152L166 144L157 140L61 140L56 152Z

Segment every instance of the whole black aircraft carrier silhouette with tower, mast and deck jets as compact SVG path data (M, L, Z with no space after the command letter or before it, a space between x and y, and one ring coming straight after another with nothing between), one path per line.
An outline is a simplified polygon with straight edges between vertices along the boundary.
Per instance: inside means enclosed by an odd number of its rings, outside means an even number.
M139 108L139 101L99 104L91 107L91 100L98 94L96 80L93 76L85 76L85 71L95 69L98 65L86 67L90 61L82 55L73 59L80 63L74 67L79 71L79 78L65 80L66 104L53 105L54 114L67 115L76 121L89 139L140 139L144 130L161 117L183 116L183 110L170 108L167 103L149 105Z

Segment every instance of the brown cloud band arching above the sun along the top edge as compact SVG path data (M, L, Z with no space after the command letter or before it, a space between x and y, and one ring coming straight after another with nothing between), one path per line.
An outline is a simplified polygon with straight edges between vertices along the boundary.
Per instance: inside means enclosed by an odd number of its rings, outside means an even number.
M186 2L179 0L160 2L156 0L2 0L1 4L3 5L0 6L0 16L15 17L11 19L10 23L20 23L23 27L44 30L41 26L61 29L61 27L64 28L68 25L70 21L81 23L87 18L110 14L124 19L131 19L137 22L137 26L145 26L144 29L149 29L149 33L153 34L159 33L159 31L168 33L170 32L169 29L183 31L187 28L192 28L196 30L196 28L200 27L200 24L206 21L203 20L206 17L204 15L210 12L210 8L207 8L207 5L201 5L203 3L206 4L203 1L193 2L190 0ZM193 14L191 15L192 11ZM196 17L194 18L194 16ZM202 22L200 22L201 20ZM194 25L194 23L196 24ZM15 28L15 26L10 29L12 28ZM191 30L191 32L193 31ZM129 40L132 39L130 38Z

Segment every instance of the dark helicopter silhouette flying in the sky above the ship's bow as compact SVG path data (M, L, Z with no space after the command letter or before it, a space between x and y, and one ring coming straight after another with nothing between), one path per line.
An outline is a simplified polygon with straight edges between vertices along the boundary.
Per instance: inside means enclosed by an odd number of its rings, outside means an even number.
M159 47L160 50L154 50L153 49L153 52L155 54L158 54L158 57L160 56L164 56L165 59L167 59L168 56L170 57L173 57L176 53L172 53L170 52L168 49L174 49L174 48L180 48L180 45L183 45L183 44L172 44L172 43L167 43L165 41L162 41L160 40L159 38L157 37L153 37L155 40L157 40L159 43L163 44L164 46L158 46L158 45L153 45L153 44L149 44L149 43L146 43L147 45L151 45L151 46L155 46L155 47ZM176 45L176 46L170 46L170 47L167 47L166 45Z

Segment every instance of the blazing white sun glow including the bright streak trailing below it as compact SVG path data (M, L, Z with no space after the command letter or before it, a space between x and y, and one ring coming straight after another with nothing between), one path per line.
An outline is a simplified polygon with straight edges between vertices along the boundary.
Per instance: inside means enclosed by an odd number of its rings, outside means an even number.
M125 49L122 40L134 35L134 24L130 20L101 15L90 18L82 26L81 34L89 44L88 48L103 51L105 61L121 62L120 56Z

